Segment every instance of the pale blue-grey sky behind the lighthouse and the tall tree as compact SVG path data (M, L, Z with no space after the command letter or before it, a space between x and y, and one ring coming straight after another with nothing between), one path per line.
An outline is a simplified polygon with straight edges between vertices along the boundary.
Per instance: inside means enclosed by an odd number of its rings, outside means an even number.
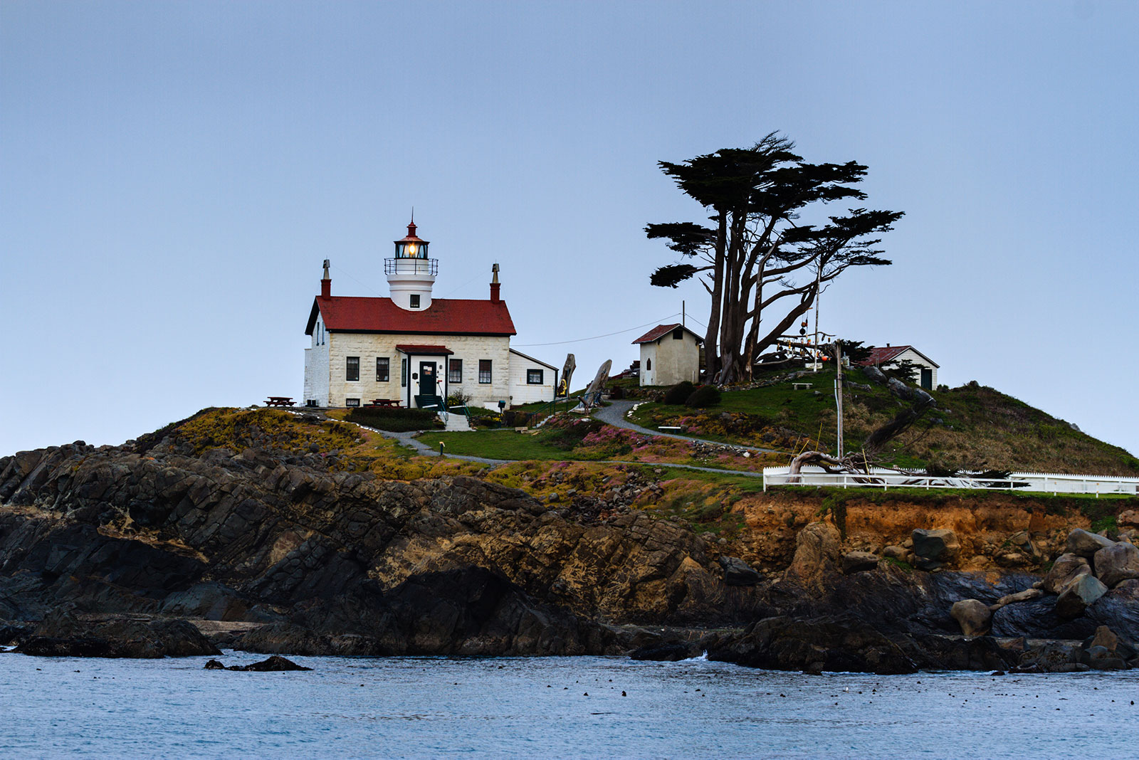
M657 162L772 131L906 213L822 330L1139 452L1137 38L1098 0L5 0L0 456L300 397L321 261L386 296L412 207L435 297L498 262L515 347L625 367L707 321L648 282L645 225L706 216Z

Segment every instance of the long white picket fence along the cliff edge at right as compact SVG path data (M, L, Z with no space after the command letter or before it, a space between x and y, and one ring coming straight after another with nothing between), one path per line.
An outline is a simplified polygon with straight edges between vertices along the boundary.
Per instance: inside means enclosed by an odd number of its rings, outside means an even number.
M833 488L991 488L1051 494L1139 495L1139 478L1112 476L1080 476L1059 472L1013 472L1008 478L976 478L961 473L943 476L901 474L893 470L871 468L869 473L827 472L808 465L800 474L790 474L789 466L763 468L763 490L768 486L829 486Z

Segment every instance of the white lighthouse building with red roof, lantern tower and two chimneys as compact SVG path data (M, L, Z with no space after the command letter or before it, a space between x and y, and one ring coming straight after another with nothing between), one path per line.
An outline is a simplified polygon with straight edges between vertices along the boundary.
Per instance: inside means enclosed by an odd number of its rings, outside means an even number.
M498 410L551 400L557 369L510 348L516 333L499 295L498 264L486 299L432 298L439 259L416 224L384 261L390 298L334 296L328 259L304 333L304 400L361 406L376 399L439 407L461 391Z

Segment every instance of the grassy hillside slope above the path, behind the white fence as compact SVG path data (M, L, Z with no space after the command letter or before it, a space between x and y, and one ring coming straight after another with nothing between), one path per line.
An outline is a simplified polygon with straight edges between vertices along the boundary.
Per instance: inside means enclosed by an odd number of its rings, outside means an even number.
M845 371L844 428L847 451L857 449L876 428L907 404L861 370ZM726 443L770 446L788 452L835 449L836 420L833 370L798 382L727 391L719 405L694 410L646 403L633 421L648 428L680 424L687 435ZM1087 474L1139 474L1139 459L1080 432L1071 424L993 388L968 383L933 391L936 407L892 441L884 463L901 466L948 466Z

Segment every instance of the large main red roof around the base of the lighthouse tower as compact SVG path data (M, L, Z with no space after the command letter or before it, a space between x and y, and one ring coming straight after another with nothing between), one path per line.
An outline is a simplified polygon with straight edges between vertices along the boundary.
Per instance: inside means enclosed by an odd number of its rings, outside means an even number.
M400 308L391 298L317 296L305 334L312 334L317 314L330 332L410 332L437 336L513 336L514 321L506 301L433 298L417 311Z

